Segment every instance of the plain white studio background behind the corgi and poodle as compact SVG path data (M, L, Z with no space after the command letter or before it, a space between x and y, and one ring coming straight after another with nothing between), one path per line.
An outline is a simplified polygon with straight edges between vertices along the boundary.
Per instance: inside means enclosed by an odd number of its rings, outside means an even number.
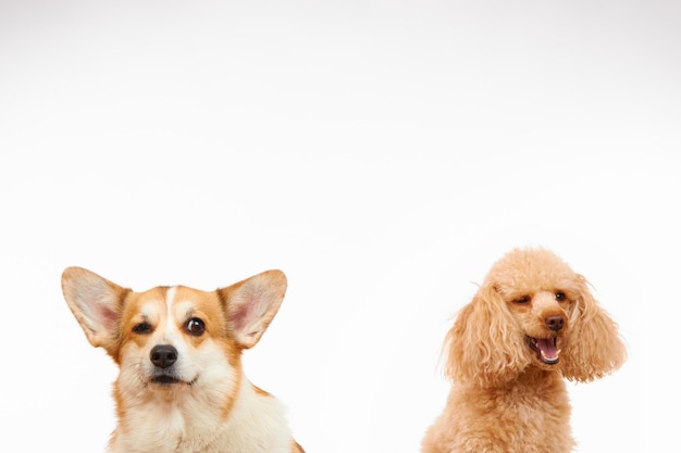
M629 348L569 385L579 452L672 451L680 11L1 0L0 440L97 452L113 429L64 267L138 290L277 267L249 378L309 453L418 452L451 316L541 244Z

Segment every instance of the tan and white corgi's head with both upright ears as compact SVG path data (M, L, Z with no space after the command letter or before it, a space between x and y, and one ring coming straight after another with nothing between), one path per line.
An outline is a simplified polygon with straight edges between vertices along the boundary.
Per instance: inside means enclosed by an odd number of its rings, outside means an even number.
M268 328L286 278L268 270L214 291L178 286L136 292L69 267L62 289L89 342L119 365L119 400L208 389L228 398L239 385L242 350Z

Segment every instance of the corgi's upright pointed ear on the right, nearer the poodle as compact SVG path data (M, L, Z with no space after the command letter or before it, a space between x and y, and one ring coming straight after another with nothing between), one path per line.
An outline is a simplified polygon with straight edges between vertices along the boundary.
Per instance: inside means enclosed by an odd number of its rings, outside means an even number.
M286 293L286 276L281 270L267 270L218 290L223 301L227 323L237 343L252 348L276 315Z

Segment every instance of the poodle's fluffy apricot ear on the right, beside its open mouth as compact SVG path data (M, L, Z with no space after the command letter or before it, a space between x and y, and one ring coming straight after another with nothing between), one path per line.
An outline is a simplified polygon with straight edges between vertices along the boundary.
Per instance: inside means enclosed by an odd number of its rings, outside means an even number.
M577 277L580 297L571 315L566 348L560 354L561 370L569 380L587 382L619 368L627 360L627 349L617 324L598 305L586 279L581 275Z

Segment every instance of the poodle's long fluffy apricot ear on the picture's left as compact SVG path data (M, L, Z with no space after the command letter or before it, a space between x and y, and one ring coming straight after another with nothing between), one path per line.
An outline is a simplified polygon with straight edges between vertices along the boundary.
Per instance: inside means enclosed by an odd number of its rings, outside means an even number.
M453 382L507 382L528 365L523 336L494 286L486 285L458 313L443 344Z

